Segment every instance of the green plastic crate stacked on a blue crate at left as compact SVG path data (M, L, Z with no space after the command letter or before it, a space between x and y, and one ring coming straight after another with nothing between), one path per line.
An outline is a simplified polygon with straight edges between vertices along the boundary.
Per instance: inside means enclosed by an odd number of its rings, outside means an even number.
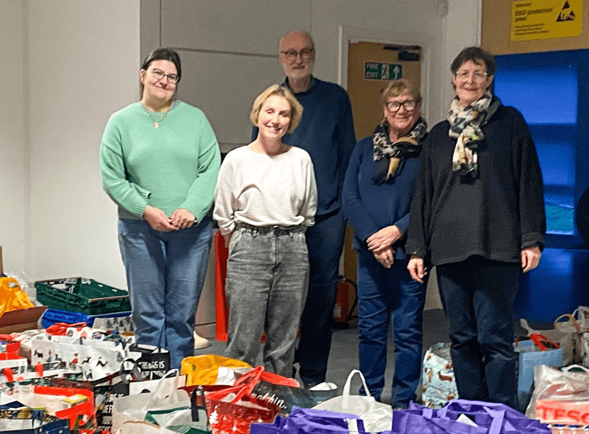
M35 282L37 299L50 309L88 315L131 310L129 292L92 279L67 278Z

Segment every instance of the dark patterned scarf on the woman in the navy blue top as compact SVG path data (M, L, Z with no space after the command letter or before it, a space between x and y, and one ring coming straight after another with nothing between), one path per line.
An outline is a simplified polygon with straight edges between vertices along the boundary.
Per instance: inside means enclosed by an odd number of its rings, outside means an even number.
M425 119L419 118L408 135L400 137L395 142L389 139L389 122L383 119L372 133L372 156L377 161L372 181L382 184L395 177L401 163L421 152L421 139L428 130Z

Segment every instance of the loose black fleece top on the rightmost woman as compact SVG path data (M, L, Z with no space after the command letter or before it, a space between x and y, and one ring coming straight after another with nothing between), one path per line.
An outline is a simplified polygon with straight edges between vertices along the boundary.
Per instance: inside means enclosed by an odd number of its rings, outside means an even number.
M442 265L473 255L520 262L522 249L543 249L542 173L522 115L502 105L482 125L476 178L452 171L449 129L438 123L423 144L406 253Z

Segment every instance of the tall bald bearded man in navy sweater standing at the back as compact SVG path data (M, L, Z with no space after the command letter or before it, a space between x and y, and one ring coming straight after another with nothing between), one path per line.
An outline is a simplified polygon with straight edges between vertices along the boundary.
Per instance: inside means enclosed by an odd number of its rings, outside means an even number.
M296 31L280 40L280 64L286 75L283 85L304 108L299 126L282 141L311 156L319 201L315 225L307 228L309 292L295 354L307 387L325 381L345 235L341 189L356 142L348 93L337 84L316 79L312 75L314 62L315 45L309 33ZM257 129L252 137L256 135Z

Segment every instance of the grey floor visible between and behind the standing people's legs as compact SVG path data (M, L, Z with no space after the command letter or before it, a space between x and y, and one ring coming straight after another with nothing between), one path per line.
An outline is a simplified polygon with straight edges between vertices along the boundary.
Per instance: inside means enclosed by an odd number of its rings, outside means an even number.
M423 353L430 346L438 342L449 342L447 319L442 309L429 309L423 312ZM222 355L225 343L210 339L211 346L202 350L195 350L199 354ZM261 354L258 364L261 364ZM348 379L350 371L358 369L358 319L352 319L348 329L334 329L331 341L331 353L328 361L327 381L338 385L339 392ZM394 372L393 346L389 332L389 351L387 354L386 383L382 394L382 401L391 404L391 384ZM300 380L300 379L299 379ZM355 378L352 382L353 393L358 392L361 382Z

